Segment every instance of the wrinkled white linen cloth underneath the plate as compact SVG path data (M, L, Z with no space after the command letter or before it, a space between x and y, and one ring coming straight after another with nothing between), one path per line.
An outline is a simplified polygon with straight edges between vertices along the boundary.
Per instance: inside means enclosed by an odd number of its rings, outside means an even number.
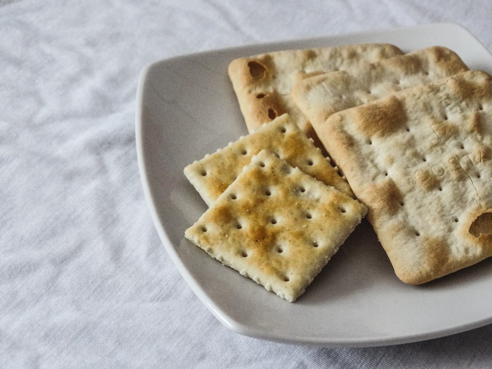
M460 23L492 50L491 9L490 0L0 0L0 368L489 368L492 325L338 349L228 330L154 230L134 117L149 62L434 22Z

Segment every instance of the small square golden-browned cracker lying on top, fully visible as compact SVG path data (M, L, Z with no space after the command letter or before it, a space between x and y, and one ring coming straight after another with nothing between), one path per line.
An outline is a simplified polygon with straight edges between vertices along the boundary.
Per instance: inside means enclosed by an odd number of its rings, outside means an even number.
M262 150L185 237L293 302L366 211L357 200Z

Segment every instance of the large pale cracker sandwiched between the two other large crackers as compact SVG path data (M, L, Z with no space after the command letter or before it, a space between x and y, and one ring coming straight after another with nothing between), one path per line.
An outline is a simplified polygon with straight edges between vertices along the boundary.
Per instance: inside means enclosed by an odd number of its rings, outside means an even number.
M291 95L316 130L333 113L466 70L454 51L434 46L304 79Z

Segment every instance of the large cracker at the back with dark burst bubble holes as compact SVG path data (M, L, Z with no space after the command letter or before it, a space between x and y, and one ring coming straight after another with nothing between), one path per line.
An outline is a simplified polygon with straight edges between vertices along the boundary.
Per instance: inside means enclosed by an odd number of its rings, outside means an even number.
M316 139L312 126L290 97L292 87L315 74L401 54L398 47L390 44L283 50L235 59L228 72L249 132L289 113L308 137Z

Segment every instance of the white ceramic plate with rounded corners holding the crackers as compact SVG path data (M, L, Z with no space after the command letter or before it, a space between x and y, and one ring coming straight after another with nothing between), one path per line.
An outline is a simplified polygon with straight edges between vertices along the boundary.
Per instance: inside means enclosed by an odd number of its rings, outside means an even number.
M142 70L137 152L155 227L186 282L235 332L348 347L437 338L492 323L492 259L425 285L405 285L365 221L292 304L184 239L184 230L206 210L186 181L184 166L247 133L227 77L228 63L272 50L364 42L393 43L406 52L442 45L470 68L492 72L490 53L453 24L218 50L155 62Z

